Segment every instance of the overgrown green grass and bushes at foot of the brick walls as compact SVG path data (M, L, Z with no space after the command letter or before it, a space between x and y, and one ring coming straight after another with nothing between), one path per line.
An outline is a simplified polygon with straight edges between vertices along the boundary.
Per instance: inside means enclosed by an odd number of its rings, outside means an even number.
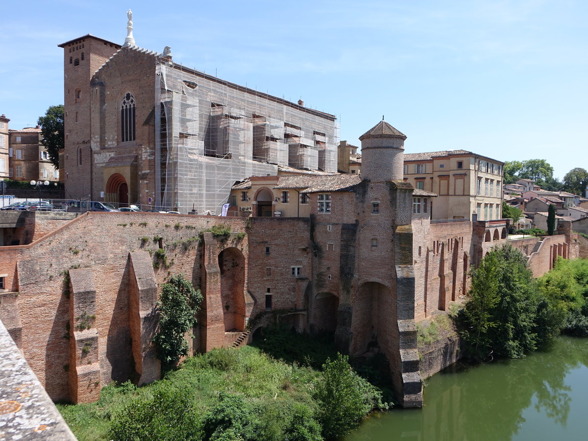
M111 384L96 403L58 407L79 440L121 441L318 441L387 408L380 390L332 344L282 328L260 346L278 348L284 339L300 343L289 362L253 346L214 349L151 385ZM314 348L306 359L304 348Z

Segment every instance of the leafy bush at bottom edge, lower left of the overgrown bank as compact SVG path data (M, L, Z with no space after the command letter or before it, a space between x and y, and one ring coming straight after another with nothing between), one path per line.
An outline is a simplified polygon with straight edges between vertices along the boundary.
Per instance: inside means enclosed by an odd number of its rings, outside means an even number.
M111 436L116 441L201 439L193 397L160 383L151 397L137 397L114 416Z

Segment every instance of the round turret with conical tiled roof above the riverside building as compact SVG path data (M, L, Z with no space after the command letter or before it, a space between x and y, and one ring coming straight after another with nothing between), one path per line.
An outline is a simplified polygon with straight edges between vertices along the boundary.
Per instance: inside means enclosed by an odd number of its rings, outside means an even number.
M370 182L402 181L406 135L389 123L377 123L359 137L362 142L362 179Z

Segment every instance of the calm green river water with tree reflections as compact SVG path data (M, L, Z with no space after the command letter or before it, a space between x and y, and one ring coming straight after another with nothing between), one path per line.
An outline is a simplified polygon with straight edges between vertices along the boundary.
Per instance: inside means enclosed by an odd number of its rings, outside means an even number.
M546 352L454 365L425 381L423 409L367 419L345 441L588 440L588 339Z

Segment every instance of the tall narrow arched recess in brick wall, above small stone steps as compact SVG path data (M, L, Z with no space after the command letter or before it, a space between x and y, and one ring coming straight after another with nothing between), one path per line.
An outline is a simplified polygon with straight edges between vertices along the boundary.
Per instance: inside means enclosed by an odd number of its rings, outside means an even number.
M219 256L220 299L225 332L245 330L245 257L238 248L225 248Z

